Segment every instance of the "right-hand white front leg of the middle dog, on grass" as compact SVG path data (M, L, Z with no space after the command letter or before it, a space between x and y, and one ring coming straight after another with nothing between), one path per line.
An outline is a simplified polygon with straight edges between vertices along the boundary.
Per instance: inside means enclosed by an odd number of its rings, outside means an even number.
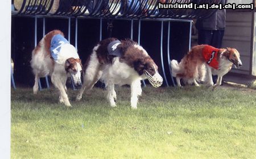
M137 109L138 95L141 94L141 81L131 83L131 108Z

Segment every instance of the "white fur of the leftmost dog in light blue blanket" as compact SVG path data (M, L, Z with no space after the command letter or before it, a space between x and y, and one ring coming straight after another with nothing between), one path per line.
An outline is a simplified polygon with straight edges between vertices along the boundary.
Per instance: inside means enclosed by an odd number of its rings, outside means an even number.
M71 106L68 100L68 95L65 91L65 84L67 81L67 72L65 70L65 61L68 58L74 56L74 58L79 58L75 47L71 44L65 44L60 49L60 58L58 61L54 61L51 58L51 55L48 54L46 50L44 50L44 39L40 41L42 47L35 53L32 52L32 60L31 67L33 73L35 74L35 84L33 87L33 92L36 94L38 92L38 81L40 77L51 76L51 81L57 89L60 91L59 102L64 103L66 106ZM77 73L72 74L80 79L80 70L82 69L80 64L77 63L77 69L79 70Z

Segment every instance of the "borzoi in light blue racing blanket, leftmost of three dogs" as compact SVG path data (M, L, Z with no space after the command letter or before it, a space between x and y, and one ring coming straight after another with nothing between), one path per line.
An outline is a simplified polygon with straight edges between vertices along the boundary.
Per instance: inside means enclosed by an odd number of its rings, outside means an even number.
M60 90L59 102L71 106L65 92L67 77L71 76L73 84L81 87L82 65L76 48L64 38L63 32L49 32L32 51L30 61L35 74L33 92L38 92L40 77L51 76L51 81Z

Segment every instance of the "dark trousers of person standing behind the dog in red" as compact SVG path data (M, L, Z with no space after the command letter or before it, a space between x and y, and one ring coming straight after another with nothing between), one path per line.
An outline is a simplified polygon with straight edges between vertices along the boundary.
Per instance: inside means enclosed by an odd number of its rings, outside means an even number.
M199 30L198 44L207 44L216 48L221 48L224 30ZM217 82L218 77L212 76L213 83Z

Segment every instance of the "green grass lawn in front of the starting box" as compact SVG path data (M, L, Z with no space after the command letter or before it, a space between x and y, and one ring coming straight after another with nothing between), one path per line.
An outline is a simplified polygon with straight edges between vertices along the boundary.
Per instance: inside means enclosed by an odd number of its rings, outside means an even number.
M72 108L56 89L11 91L11 158L255 158L256 91L143 88L138 109L117 87L117 107L94 88Z

